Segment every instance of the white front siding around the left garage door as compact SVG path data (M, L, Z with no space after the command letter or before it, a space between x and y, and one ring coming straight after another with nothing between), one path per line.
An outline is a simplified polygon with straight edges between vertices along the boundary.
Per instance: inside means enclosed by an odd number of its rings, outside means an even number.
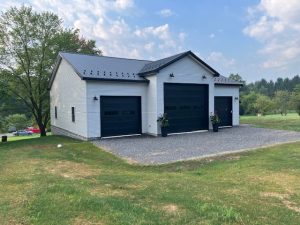
M141 96L142 132L147 132L147 83L87 81L88 138L101 137L100 96ZM98 100L93 100L94 97Z

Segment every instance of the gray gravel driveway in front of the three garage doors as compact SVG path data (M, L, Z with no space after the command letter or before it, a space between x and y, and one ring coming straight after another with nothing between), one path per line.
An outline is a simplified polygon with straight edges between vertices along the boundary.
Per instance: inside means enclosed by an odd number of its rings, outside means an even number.
M164 164L300 141L300 132L272 130L242 125L221 129L218 133L201 132L162 137L136 136L101 139L93 143L121 158L139 164Z

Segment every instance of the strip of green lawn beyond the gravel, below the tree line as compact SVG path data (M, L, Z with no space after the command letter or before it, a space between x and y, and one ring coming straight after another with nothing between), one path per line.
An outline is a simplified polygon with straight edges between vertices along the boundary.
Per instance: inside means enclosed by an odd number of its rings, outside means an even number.
M241 116L241 123L253 124L257 127L300 131L300 116L296 113L289 113L286 116L266 115L266 116Z

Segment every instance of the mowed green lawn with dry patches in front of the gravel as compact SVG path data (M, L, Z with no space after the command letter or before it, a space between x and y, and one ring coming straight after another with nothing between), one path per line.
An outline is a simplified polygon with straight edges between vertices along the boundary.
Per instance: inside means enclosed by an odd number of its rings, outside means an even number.
M299 224L299 177L300 143L138 166L88 142L20 140L0 144L0 224Z

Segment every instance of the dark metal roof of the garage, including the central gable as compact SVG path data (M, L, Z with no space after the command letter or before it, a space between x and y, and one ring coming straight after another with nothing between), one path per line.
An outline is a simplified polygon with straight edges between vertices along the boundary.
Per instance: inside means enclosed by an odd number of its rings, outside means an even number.
M50 89L52 86L61 59L66 60L82 80L147 83L149 82L146 79L147 75L157 73L185 56L191 56L206 67L215 76L216 85L242 85L240 82L221 76L192 51L186 51L157 61L60 52L48 88Z

